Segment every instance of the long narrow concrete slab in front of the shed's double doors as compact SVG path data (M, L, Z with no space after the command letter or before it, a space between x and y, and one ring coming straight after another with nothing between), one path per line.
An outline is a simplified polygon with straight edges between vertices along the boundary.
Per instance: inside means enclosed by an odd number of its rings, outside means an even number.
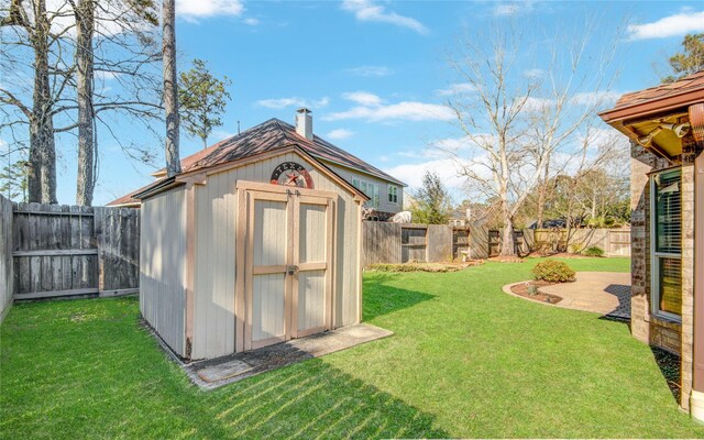
M394 332L376 326L358 323L258 350L190 364L182 363L182 366L193 383L201 388L212 389L245 377L280 369L307 359L346 350L392 334Z

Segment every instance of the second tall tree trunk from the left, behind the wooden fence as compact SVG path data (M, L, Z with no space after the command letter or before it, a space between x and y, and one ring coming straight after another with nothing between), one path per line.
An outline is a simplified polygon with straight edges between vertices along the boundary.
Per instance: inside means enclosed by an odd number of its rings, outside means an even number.
M78 173L76 205L92 205L96 183L92 107L94 80L94 0L79 0L76 7L76 85L78 95Z

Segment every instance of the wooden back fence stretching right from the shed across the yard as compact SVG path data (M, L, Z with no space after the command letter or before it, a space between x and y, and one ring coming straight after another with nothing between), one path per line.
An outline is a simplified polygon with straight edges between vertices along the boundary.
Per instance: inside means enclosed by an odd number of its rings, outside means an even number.
M399 224L377 221L362 223L363 263L440 262L466 256L472 260L497 256L502 231L444 224ZM606 256L630 256L630 231L626 229L563 229L514 231L516 252L579 252L590 246ZM569 249L568 249L569 248Z

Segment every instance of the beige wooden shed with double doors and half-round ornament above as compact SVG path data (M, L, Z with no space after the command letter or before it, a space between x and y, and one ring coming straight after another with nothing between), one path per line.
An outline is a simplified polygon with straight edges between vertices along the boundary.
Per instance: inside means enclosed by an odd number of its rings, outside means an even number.
M208 147L182 161L182 174L133 194L142 204L140 309L182 358L361 319L369 198L316 157L309 112L297 118L295 128L272 119Z

